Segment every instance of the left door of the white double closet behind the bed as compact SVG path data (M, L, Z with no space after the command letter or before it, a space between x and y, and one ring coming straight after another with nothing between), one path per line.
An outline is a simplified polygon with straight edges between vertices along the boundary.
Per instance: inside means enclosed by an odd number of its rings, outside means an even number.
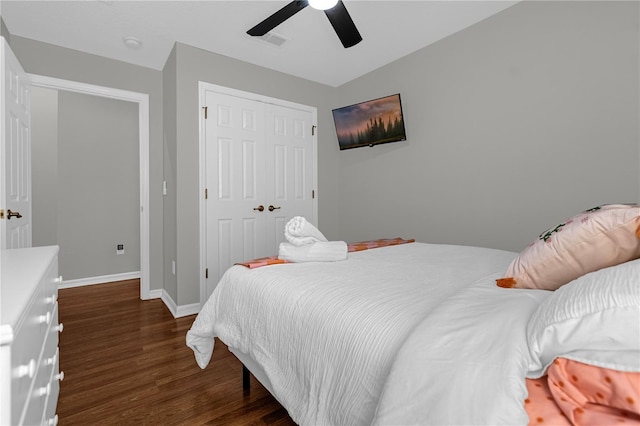
M206 267L215 286L235 262L266 255L265 106L207 92L207 111Z

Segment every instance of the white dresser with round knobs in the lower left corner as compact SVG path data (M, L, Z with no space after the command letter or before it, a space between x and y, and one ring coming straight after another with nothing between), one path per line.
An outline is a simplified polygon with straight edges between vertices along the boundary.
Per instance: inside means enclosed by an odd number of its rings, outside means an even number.
M58 246L2 250L0 425L55 425Z

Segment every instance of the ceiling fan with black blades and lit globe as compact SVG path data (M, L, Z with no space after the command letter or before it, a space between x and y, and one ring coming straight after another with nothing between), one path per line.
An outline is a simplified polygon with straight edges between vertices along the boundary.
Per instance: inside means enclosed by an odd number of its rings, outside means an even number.
M342 45L347 48L362 41L342 0L294 0L255 27L247 31L251 36L263 36L307 6L323 10Z

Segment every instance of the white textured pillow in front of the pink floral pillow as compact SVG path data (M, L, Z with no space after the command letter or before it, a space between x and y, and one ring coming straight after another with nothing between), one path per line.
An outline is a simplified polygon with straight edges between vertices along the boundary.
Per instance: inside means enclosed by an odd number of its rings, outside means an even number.
M621 371L640 370L640 259L583 275L560 287L527 324L528 377L556 357Z

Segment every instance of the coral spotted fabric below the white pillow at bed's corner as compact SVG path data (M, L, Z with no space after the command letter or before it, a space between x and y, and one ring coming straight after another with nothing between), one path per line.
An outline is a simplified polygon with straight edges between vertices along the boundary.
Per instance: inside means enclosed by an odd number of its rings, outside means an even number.
M527 389L530 425L640 425L640 373L557 358Z

